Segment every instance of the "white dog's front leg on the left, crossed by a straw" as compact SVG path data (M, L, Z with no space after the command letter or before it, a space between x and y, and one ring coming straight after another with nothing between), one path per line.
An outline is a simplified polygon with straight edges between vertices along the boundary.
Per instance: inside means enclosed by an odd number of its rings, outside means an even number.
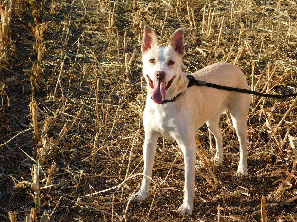
M143 178L140 190L134 194L131 200L142 201L149 196L151 173L153 170L158 136L154 133L146 133L143 143Z

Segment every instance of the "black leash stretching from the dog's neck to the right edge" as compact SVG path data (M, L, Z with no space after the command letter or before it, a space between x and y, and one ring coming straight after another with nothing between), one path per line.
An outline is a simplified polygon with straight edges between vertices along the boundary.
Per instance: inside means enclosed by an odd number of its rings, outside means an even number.
M187 78L189 79L189 84L188 88L191 86L208 86L216 89L223 89L223 90L228 90L228 91L234 91L234 92L241 92L241 93L248 93L248 94L253 94L257 96L264 96L264 97L270 97L270 98L286 98L286 97L291 97L291 96L297 96L297 93L292 93L292 94L285 94L285 95L273 95L273 94L266 94L266 93L260 93L256 91L252 91L249 89L240 89L240 88L234 88L234 87L229 87L229 86L221 86L213 83L208 83L205 81L201 80L196 80L194 76L192 75L187 75Z

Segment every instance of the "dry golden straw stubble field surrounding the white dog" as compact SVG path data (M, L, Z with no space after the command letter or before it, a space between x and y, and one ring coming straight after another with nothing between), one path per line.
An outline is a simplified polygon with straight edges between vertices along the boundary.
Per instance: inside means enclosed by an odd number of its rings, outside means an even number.
M293 93L296 0L17 0L9 11L10 2L1 1L0 221L297 220L296 98L252 97L249 177L234 176L228 113L222 166L207 128L197 131L205 168L191 217L176 212L184 164L174 141L158 142L149 200L128 200L143 170L143 26L161 44L186 28L186 72L229 62L256 91Z

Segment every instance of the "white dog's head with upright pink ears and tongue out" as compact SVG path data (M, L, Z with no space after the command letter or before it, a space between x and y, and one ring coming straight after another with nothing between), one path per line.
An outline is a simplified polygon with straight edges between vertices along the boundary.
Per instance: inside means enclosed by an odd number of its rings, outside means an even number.
M158 45L158 37L154 30L145 25L142 42L142 72L148 83L148 94L155 103L162 103L166 94L171 96L182 73L181 62L185 52L184 28L176 30L168 46L164 47Z

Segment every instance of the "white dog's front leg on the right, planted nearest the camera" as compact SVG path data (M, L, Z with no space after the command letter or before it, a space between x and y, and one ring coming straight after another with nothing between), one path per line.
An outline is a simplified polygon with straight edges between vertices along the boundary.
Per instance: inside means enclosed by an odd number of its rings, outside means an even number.
M185 185L183 204L178 208L181 213L191 215L193 210L194 184L195 184L195 163L196 163L196 143L195 139L189 139L182 144L178 144L184 154L185 162Z

